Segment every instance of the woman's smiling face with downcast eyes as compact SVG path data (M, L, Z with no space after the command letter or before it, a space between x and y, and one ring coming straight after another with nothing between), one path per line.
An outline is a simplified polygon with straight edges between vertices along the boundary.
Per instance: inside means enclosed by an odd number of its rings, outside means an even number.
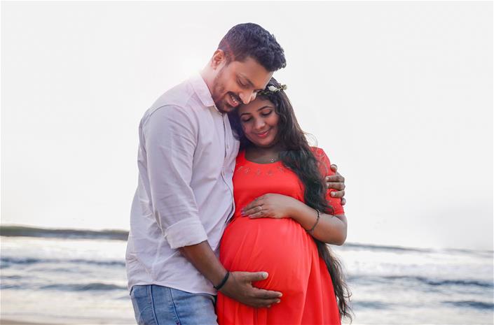
M280 117L268 99L258 97L247 105L240 105L238 115L245 136L254 145L270 147L275 144Z

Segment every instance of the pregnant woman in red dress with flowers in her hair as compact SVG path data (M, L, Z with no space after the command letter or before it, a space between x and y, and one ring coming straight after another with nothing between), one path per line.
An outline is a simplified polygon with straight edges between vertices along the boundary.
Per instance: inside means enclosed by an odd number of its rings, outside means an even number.
M253 285L283 296L269 308L252 308L219 291L220 325L341 324L350 317L340 263L324 244L346 238L341 201L323 180L333 172L324 151L309 147L283 90L272 78L230 116L240 138L236 210L220 246L227 270L267 271L268 279Z

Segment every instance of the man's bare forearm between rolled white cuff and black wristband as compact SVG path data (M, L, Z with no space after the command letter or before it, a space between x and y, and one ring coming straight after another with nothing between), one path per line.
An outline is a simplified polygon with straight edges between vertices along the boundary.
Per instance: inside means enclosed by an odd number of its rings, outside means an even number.
M226 269L221 265L207 240L196 245L180 247L179 252L213 285L218 285L226 275Z

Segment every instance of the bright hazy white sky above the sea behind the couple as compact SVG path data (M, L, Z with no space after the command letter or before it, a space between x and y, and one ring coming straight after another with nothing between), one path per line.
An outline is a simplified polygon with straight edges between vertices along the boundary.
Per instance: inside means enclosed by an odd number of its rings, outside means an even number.
M142 114L256 22L348 242L493 250L492 1L1 6L1 224L128 229Z

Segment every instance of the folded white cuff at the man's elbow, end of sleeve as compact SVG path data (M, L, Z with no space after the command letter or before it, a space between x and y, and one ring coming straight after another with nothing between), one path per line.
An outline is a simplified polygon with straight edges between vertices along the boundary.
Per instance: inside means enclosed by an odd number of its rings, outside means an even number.
M191 217L169 226L165 238L172 249L195 245L207 240L207 234L199 219Z

